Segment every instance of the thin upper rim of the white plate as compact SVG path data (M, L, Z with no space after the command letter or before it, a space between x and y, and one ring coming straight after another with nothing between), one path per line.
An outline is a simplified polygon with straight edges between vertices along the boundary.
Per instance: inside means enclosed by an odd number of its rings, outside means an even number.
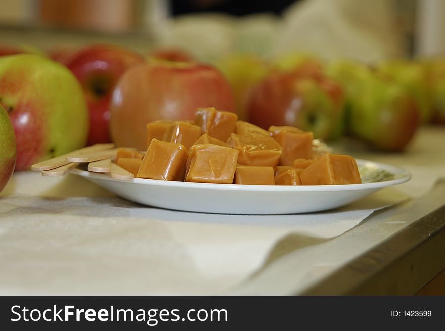
M387 186L393 186L402 184L411 179L411 173L406 169L381 163L375 161L369 161L364 159L355 159L358 165L364 163L371 163L376 165L380 169L391 169L392 173L400 175L399 178L377 181L370 183L361 184L346 184L346 185L234 185L234 184L215 184L215 183L195 183L195 182L184 182L184 181L164 181L156 179L145 179L145 178L133 178L133 179L114 179L111 178L106 173L91 172L81 169L71 169L70 172L85 178L108 180L124 182L129 184L143 184L151 186L162 186L162 187L177 187L177 188L195 188L195 189L205 189L205 190L224 190L224 191L269 191L269 192L307 192L307 191L350 191L350 190L373 190L376 188L383 188Z

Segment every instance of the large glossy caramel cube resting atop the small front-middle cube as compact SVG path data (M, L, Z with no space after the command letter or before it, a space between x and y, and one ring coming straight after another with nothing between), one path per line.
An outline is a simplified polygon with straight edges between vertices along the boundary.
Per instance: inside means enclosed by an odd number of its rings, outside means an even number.
M281 147L268 136L242 136L232 133L227 140L230 147L240 151L238 164L276 167Z

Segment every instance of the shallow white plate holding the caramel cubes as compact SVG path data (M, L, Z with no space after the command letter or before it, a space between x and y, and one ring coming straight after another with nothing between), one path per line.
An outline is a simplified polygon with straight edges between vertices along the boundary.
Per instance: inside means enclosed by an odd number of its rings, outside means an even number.
M357 160L363 184L265 186L205 184L135 178L116 180L101 173L71 170L125 199L153 207L221 214L293 214L328 210L380 188L406 182L404 169Z

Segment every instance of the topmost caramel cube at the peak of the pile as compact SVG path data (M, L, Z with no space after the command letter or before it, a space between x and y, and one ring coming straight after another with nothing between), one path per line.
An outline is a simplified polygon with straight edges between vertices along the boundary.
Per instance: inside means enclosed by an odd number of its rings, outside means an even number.
M226 141L235 132L237 120L237 114L216 110L215 107L199 108L195 112L195 125L201 127L201 133L221 141Z

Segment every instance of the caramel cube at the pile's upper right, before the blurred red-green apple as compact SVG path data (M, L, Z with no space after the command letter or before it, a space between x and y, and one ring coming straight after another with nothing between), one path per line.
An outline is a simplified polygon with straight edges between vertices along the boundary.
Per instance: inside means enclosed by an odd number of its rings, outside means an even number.
M312 156L312 132L292 126L271 126L269 132L283 148L280 165L292 165L295 159L310 159Z

